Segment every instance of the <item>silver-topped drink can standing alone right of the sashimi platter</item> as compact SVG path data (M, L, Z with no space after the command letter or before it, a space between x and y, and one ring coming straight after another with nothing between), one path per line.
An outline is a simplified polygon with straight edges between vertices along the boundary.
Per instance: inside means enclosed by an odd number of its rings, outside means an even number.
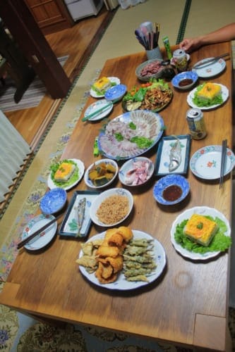
M200 109L189 109L186 114L186 119L193 139L203 139L207 135L203 112Z

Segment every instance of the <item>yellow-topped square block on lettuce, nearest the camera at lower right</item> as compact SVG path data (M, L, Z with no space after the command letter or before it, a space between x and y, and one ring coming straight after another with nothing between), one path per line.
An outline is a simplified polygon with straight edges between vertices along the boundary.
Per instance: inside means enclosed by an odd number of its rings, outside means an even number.
M217 223L203 215L193 214L184 228L184 234L203 246L208 246L217 232Z

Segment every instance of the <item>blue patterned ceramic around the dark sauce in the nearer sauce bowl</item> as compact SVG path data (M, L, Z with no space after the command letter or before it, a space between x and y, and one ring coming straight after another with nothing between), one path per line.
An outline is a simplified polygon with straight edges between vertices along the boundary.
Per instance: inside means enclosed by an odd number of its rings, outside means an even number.
M178 186L182 190L181 196L175 201L167 201L163 197L163 191L170 186ZM167 175L162 177L155 183L155 187L153 188L153 196L156 201L164 206L172 206L176 203L183 201L186 198L190 190L188 180L181 175Z

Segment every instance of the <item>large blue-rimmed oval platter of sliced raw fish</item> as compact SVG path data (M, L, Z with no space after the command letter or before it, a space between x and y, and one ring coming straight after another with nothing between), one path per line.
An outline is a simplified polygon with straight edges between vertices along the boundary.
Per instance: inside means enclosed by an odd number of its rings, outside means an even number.
M164 122L158 113L136 110L109 121L105 130L100 132L98 147L107 158L127 160L140 156L162 137ZM121 137L121 138L120 138ZM138 147L131 142L133 137L145 137L152 141L150 146Z

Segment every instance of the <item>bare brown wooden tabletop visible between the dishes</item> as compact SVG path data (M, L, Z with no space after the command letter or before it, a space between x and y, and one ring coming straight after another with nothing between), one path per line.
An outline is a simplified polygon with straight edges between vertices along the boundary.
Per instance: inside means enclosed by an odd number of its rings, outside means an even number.
M231 43L202 47L191 54L189 66L227 51L230 58L226 60L225 70L216 77L199 79L198 84L206 80L224 84L229 89L229 99L218 108L203 111L207 136L191 140L190 156L203 146L221 145L222 139L227 139L228 147L232 148ZM166 58L164 50L162 54ZM146 59L145 52L109 59L100 77L119 77L129 90L141 83L135 75L135 68ZM176 91L171 82L169 86L173 90L173 99L159 112L166 127L164 135L188 134L188 92ZM90 96L85 108L95 101ZM116 103L109 119L122 113L121 102ZM81 118L62 158L80 159L88 168L102 158L93 156L93 145L104 121L82 122ZM157 146L145 156L155 162ZM130 291L109 290L105 285L98 287L83 277L76 264L84 240L56 236L46 249L37 253L25 249L19 251L0 294L0 303L51 322L102 327L178 346L202 348L202 351L207 348L231 351L229 251L210 260L191 260L174 249L170 235L176 217L195 206L215 208L231 222L231 172L225 177L222 189L219 189L219 180L203 180L193 175L190 168L185 177L190 184L190 194L174 206L161 206L155 201L153 187L157 176L143 187L129 189L134 206L124 225L157 239L167 256L162 275L154 282ZM125 188L118 178L112 187ZM81 180L68 191L68 199L74 191L85 189L88 187ZM104 228L92 225L87 239L102 231Z

